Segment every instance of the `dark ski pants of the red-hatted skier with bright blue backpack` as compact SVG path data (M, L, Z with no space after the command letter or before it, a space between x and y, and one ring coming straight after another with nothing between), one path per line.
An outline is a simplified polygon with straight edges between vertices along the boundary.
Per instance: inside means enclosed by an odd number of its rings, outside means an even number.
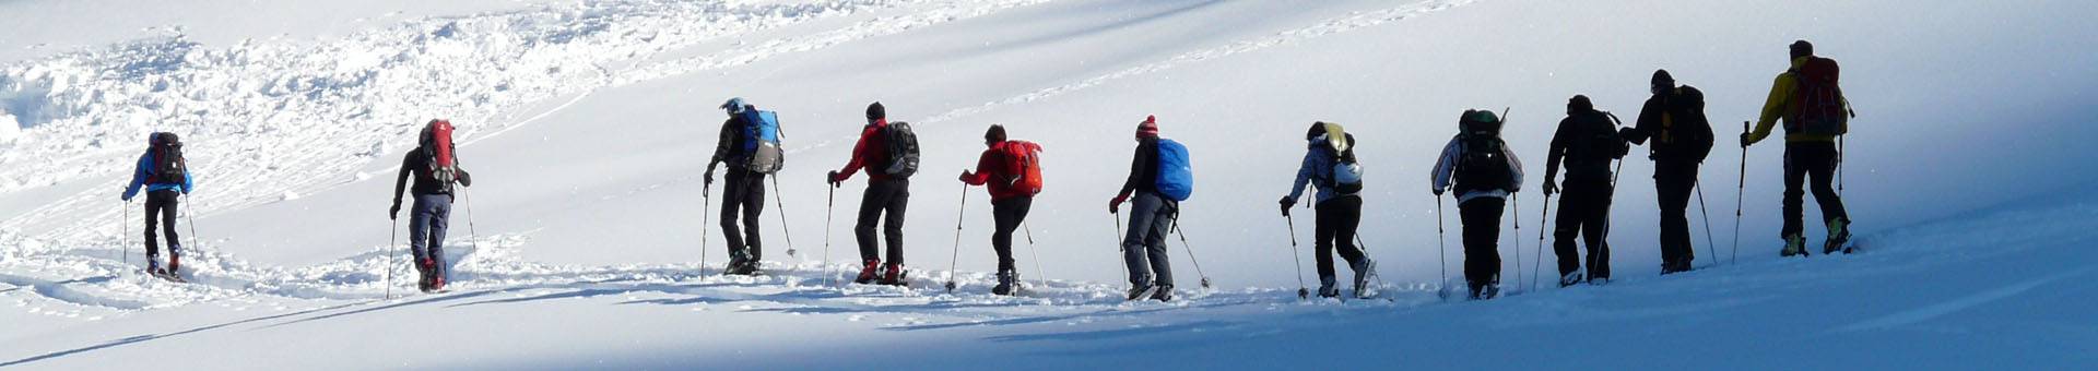
M1122 264L1131 285L1173 285L1173 260L1166 256L1166 233L1179 218L1179 203L1152 191L1129 199L1129 235L1122 237Z

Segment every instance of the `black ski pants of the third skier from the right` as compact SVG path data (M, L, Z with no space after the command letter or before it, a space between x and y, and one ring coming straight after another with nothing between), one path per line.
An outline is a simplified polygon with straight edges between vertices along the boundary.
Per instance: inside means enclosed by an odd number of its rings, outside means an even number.
M1559 226L1553 228L1553 254L1559 256L1559 277L1580 272L1582 256L1576 239L1588 245L1588 277L1609 279L1609 174L1567 176L1559 187Z

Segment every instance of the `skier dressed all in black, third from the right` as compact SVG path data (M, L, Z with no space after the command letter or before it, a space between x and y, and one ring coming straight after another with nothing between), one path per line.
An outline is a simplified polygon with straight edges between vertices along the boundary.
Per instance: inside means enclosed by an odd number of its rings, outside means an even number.
M1553 254L1559 256L1559 287L1609 281L1609 201L1615 176L1609 163L1622 159L1628 147L1618 136L1609 113L1594 111L1588 96L1567 101L1567 117L1559 119L1550 151L1544 155L1544 197L1559 193L1559 226L1553 228ZM1565 163L1567 178L1559 178ZM1574 239L1586 237L1588 275L1582 277L1582 256Z

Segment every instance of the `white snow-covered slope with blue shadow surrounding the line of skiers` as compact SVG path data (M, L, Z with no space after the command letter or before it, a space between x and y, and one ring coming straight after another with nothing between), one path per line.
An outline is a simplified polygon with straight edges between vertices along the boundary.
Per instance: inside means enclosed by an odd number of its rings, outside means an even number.
M2098 180L2094 13L2079 0L0 2L0 369L2083 369L2098 361L2098 195L2083 193ZM1779 140L1748 151L1746 193L1722 187L1741 180L1735 126L1800 38L1848 69L1859 254L1777 258ZM1657 277L1651 161L1634 155L1615 195L1618 281L1513 285L1536 279L1536 184L1565 99L1632 119L1653 69L1701 88L1720 134L1704 170L1710 220L1691 210L1699 270ZM701 210L720 205L699 191L730 96L778 111L787 132L764 277L715 275L726 254ZM841 283L864 180L837 189L829 224L818 182L873 101L925 143L908 289ZM1460 111L1504 107L1532 174L1504 218L1513 293L1446 302L1456 205L1437 214L1427 172ZM1200 182L1169 304L1120 300L1101 210L1146 115L1192 147ZM447 241L453 289L424 296L382 212L432 117L459 124L476 187ZM1313 220L1299 212L1286 231L1273 199L1315 119L1362 138L1362 231L1387 300L1294 298L1290 254L1311 258ZM948 180L973 168L990 124L1047 147L1028 218L1041 228L1015 247L1034 291L1018 298L988 293L984 191L963 205ZM180 226L189 285L138 275L141 203L117 201L149 132L180 134L197 178ZM1196 285L1204 272L1213 289Z

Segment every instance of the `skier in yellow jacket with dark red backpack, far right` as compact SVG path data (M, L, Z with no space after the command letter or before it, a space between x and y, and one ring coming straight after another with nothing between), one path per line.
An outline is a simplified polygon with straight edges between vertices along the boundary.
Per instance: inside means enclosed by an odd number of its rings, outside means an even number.
M1827 65L1827 82L1806 80L1811 63ZM1819 65L1817 65L1819 67ZM1840 119L1827 119L1829 124L1808 124L1804 111L1811 105L1804 101L1804 84L1827 84L1834 92L1829 103L1840 105ZM1827 226L1827 241L1823 254L1842 249L1850 239L1850 216L1844 212L1842 197L1829 187L1836 174L1836 166L1842 161L1842 153L1836 149L1836 138L1846 132L1846 117L1850 113L1850 103L1842 99L1842 92L1834 88L1834 61L1817 59L1815 46L1806 40L1792 44L1792 69L1779 73L1771 82L1771 96L1762 103L1762 117L1756 122L1754 132L1741 132L1741 149L1748 151L1750 145L1760 143L1771 136L1771 128L1783 119L1785 122L1785 226L1781 237L1785 239L1783 256L1804 256L1806 239L1800 237L1802 231L1802 208L1804 193L1800 184L1813 176L1815 201L1821 203L1821 220ZM1827 128L1821 128L1827 126Z

